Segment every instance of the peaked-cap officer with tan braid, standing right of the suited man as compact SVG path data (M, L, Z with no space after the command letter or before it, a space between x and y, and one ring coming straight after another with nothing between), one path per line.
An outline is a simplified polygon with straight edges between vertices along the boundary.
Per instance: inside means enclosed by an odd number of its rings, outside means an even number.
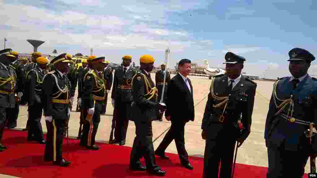
M231 178L235 143L240 147L251 131L256 83L241 74L242 56L225 55L226 74L211 81L210 93L202 121L206 140L203 177ZM239 120L245 127L237 127Z

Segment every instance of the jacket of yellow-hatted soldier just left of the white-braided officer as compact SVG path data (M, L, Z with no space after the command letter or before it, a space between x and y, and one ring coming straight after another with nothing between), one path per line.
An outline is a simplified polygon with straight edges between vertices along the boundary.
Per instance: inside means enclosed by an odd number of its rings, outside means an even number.
M34 69L30 70L28 75L26 76L28 80L28 87L29 88L29 105L32 106L36 103L41 103L41 96L42 96L42 82L44 78L45 70L42 70L39 67L35 67Z

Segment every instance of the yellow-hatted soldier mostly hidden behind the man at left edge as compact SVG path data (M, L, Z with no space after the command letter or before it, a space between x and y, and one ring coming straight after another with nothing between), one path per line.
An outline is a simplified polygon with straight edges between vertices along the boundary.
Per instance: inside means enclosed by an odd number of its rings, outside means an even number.
M19 112L20 112L20 99L23 96L23 81L24 81L24 68L22 67L22 65L20 64L19 60L18 60L18 56L19 54L15 51L12 51L10 53L11 55L14 55L16 57L16 60L13 61L9 66L15 71L16 73L16 79L17 79L17 87L19 89L19 97L16 95L16 104L15 107L12 108L12 110L9 113L9 118L8 118L8 122L7 122L7 127L12 129L16 127L16 121L18 119L19 116Z

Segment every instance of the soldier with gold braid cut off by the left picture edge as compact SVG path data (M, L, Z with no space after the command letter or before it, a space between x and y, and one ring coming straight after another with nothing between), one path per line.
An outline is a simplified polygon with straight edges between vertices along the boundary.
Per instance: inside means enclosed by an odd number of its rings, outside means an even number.
M16 74L9 67L10 63L16 60L16 57L10 52L12 49L3 49L0 51L0 152L8 149L2 145L3 130L8 119L9 112L15 107Z

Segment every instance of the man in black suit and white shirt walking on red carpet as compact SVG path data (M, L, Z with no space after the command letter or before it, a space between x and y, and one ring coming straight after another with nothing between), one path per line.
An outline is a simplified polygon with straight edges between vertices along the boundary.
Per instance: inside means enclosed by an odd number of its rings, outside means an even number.
M168 83L165 118L171 121L171 128L166 133L163 141L159 144L155 154L163 159L165 149L175 139L176 148L180 162L185 168L193 169L193 166L188 160L188 154L185 149L185 124L194 121L194 99L193 86L187 75L191 71L191 60L182 59L178 63L179 73L175 75Z

